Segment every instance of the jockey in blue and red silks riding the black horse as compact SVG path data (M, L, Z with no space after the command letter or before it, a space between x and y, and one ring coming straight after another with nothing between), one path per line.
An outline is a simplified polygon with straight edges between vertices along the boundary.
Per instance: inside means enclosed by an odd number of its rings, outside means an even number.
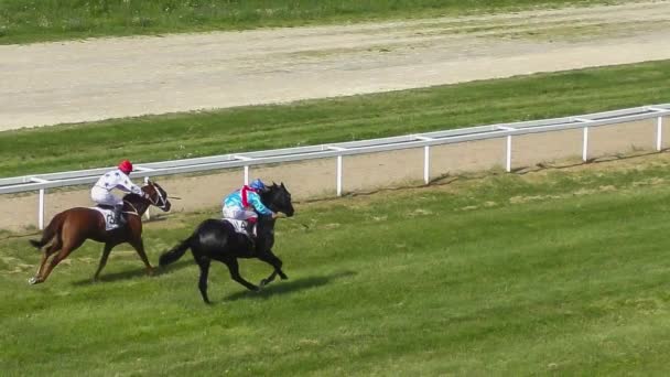
M224 218L247 222L248 235L250 237L256 237L258 214L270 215L272 218L277 218L277 214L266 207L260 200L259 193L266 190L268 190L266 184L257 179L248 186L245 185L240 190L230 193L224 198Z

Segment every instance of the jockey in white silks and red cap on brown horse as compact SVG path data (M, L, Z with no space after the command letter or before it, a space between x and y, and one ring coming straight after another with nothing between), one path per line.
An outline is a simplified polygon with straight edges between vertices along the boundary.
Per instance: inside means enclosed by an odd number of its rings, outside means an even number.
M130 181L130 177L128 176L130 172L132 172L132 163L128 160L123 160L119 163L118 169L105 173L105 175L100 176L98 182L96 182L93 188L90 188L90 198L94 202L114 207L114 215L119 225L126 223L125 218L121 216L123 200L111 193L114 188L149 198L149 195L145 194L140 186Z

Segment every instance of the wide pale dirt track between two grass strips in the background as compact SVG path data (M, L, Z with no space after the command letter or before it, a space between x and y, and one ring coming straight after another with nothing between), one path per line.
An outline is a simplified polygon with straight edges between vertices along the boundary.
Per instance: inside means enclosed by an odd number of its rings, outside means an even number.
M670 58L670 2L0 46L0 130Z

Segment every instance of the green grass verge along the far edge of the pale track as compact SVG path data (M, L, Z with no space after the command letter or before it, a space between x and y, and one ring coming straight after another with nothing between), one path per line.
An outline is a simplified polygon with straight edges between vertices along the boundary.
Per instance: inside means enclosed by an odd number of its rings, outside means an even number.
M502 12L606 0L0 0L0 44Z

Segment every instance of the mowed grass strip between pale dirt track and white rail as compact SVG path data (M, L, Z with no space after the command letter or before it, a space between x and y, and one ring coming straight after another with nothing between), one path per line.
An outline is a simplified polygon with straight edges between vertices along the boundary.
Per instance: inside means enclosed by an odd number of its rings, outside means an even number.
M0 176L360 140L670 101L670 61L0 132Z

